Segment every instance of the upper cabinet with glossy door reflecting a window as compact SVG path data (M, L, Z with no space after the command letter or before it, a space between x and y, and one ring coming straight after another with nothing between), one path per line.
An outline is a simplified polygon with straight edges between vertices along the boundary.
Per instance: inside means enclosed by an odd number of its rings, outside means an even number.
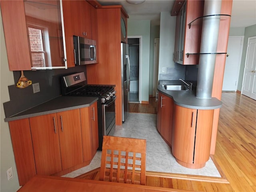
M1 1L10 70L67 68L60 3Z

